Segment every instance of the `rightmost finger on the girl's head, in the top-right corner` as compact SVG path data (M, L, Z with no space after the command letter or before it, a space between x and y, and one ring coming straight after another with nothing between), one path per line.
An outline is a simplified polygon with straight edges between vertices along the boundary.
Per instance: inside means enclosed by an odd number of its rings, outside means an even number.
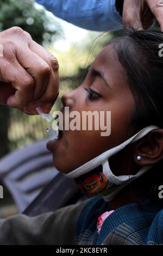
M161 31L163 32L163 1L147 0L147 4L156 17L156 20L159 22Z

